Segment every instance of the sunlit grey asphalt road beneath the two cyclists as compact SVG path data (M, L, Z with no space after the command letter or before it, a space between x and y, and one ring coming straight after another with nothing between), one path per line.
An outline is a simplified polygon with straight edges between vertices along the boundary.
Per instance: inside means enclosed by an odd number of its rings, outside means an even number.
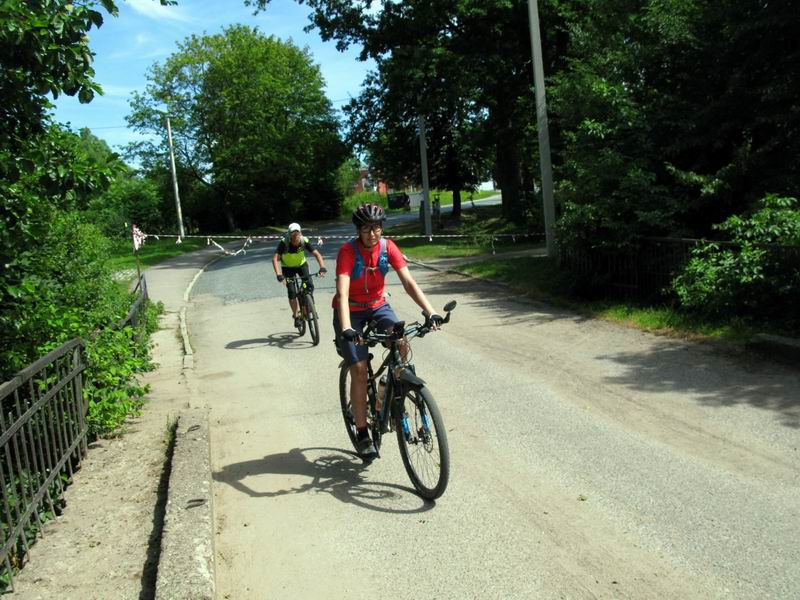
M337 247L323 246L331 272ZM800 597L797 371L414 269L435 305L459 303L414 345L452 460L428 503L394 438L369 467L352 456L333 278L317 280L312 347L272 252L217 262L188 313L218 598Z

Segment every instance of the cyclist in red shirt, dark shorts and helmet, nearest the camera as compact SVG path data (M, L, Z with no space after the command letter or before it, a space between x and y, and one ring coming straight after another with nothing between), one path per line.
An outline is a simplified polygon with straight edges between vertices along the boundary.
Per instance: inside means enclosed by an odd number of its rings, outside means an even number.
M367 430L368 348L361 344L364 326L374 320L389 331L399 321L383 297L391 266L403 289L438 329L442 317L414 281L406 260L392 240L381 239L386 213L377 204L362 204L353 212L357 237L339 248L336 257L336 295L333 328L339 353L350 366L350 400L358 431L358 453L364 459L377 455Z

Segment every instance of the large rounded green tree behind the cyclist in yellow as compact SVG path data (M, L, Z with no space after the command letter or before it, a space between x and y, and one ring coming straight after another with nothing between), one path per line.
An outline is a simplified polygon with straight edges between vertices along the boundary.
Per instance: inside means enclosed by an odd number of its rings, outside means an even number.
M230 228L338 211L347 153L307 50L237 25L188 38L148 79L129 123L163 136L172 115L178 160Z

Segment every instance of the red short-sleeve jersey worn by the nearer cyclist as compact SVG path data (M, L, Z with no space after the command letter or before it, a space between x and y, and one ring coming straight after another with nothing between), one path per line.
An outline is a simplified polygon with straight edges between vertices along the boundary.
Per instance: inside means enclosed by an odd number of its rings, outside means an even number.
M356 241L358 251L361 253L361 258L364 261L364 272L358 279L350 280L350 297L348 300L352 302L359 302L362 304L369 304L369 308L377 308L386 303L383 298L384 290L384 276L380 270L371 267L378 266L378 259L380 258L381 249L380 243L375 244L372 248L365 248L361 240ZM339 248L339 254L336 255L336 276L350 275L356 263L356 249L353 244L346 242ZM403 258L403 253L392 240L386 240L386 254L389 257L389 264L395 271L402 269L406 266L406 259ZM374 304L373 304L374 303ZM333 307L336 308L337 298L333 298ZM351 306L350 310L358 311L363 310L358 306Z

